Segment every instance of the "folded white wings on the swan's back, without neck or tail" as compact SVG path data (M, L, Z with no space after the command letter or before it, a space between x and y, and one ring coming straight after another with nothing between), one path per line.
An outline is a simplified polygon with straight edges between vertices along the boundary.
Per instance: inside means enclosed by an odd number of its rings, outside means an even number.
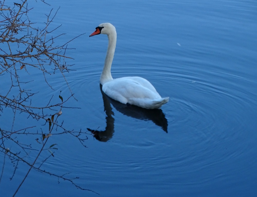
M153 85L141 77L122 77L106 82L103 92L121 103L135 104L135 101L150 102L160 100L161 96Z

